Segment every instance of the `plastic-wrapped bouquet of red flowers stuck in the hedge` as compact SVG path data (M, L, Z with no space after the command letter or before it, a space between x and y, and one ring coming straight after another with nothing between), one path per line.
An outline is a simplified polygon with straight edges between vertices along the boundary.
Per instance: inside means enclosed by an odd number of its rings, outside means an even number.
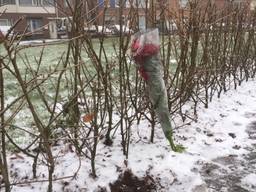
M150 101L159 119L165 137L173 151L182 152L182 145L175 145L173 129L168 109L168 96L163 79L160 60L158 29L146 30L134 35L131 45L132 57L138 65L140 75L145 80Z

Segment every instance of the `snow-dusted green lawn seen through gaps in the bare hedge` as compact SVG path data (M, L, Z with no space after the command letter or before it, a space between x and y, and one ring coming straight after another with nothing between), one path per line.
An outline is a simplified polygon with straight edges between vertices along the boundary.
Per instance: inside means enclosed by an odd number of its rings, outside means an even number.
M93 48L97 54L99 54L100 50L100 43L99 39L92 39ZM116 67L111 70L113 73L113 79L118 83L118 59L115 53L115 49L118 50L119 44L118 44L118 38L107 38L104 40L104 48L107 54L107 59L110 63L114 63ZM32 70L36 70L38 68L37 61L40 59L41 52L43 51L43 57L42 62L39 68L39 74L47 74L55 68L59 60L61 59L61 55L65 55L67 53L68 44L59 44L59 45L50 45L46 47L37 47L37 48L26 48L24 50L21 50L17 54L17 64L21 71L23 80L29 81L32 78L31 72L28 70L28 67L31 67ZM118 53L117 53L118 54ZM129 52L127 53L129 54ZM0 55L6 55L6 52L4 51L3 47L0 47ZM92 66L92 62L90 58L87 56L86 50L82 48L82 60L84 62L84 65L89 69L89 73L93 75L93 73L96 73L96 69ZM70 66L73 66L72 62L72 56L69 58ZM8 63L8 60L5 60L6 63ZM104 57L102 57L102 62L105 63ZM12 66L11 63L8 64L10 67ZM135 74L135 65L132 70L134 70ZM11 67L12 68L12 67ZM61 63L58 67L59 70L63 69L63 63ZM54 93L56 88L56 82L57 78L59 76L59 73L56 73L52 75L42 86L41 90L46 96L47 102L50 106L52 106L52 103L54 101ZM68 100L68 97L71 95L70 92L70 86L72 83L72 72L70 70L67 70L61 80L61 86L60 86L60 95L58 98L58 102L66 102ZM22 94L21 88L18 84L18 81L16 78L7 70L4 70L4 84L5 84L5 98L6 98L6 104L10 104L11 101L13 101L15 98L20 96ZM85 80L84 80L85 81ZM90 95L90 93L88 93ZM47 120L49 119L49 112L47 111L45 105L43 104L43 101L40 98L40 95L37 91L33 91L29 95L32 99L33 104L35 105L35 108L40 115L42 119L45 119L45 123L47 123ZM19 103L17 103L19 104ZM14 112L17 108L17 105L13 106L10 111L8 111L8 114L11 114ZM11 122L12 124L21 125L24 127L31 127L33 125L32 115L30 114L27 105L24 105L21 112L17 117L14 118L14 120Z

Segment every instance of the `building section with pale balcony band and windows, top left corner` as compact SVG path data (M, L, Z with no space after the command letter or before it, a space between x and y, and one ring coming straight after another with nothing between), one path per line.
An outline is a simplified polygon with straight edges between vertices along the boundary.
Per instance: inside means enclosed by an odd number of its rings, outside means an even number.
M49 19L56 17L54 0L0 0L0 26L15 27L29 38L49 38Z

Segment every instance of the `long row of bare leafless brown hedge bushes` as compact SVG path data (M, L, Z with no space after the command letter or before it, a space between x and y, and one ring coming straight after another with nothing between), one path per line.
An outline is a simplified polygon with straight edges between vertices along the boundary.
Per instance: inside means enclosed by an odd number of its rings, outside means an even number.
M39 156L44 157L48 167L48 192L51 192L56 163L52 146L58 141L70 143L78 155L90 159L92 176L96 177L95 157L101 138L106 145L111 145L115 142L113 135L120 134L123 154L128 159L132 126L147 119L152 128L150 140L154 140L157 119L147 98L145 82L130 57L131 34L121 30L115 38L93 39L84 31L82 5L83 1L77 0L70 6L73 14L70 39L64 42L65 50L55 57L49 68L44 66L47 48L59 46L63 41L19 45L26 35L24 31L11 38L7 35L1 42L0 173L1 188L7 192L12 185L22 183L14 183L10 178L8 146L33 159L31 181L37 178ZM232 5L224 10L216 9L211 3L200 5L191 1L186 10L178 13L163 7L160 17L161 59L170 114L184 121L196 119L199 105L208 107L214 97L254 78L256 72L255 12ZM123 9L121 4L121 26L124 25ZM146 11L152 9L149 7ZM107 8L102 14L106 11ZM152 18L148 18L148 27L159 26L154 13L153 10ZM129 10L127 18L131 21L130 28L137 31L136 7ZM168 24L173 22L177 29L169 31ZM40 50L39 55L29 58L26 50L31 49ZM11 101L8 100L9 86L16 90ZM183 109L188 103L192 113ZM21 125L24 113L29 121ZM12 138L15 132L26 133L30 138L27 146L20 146ZM38 150L32 150L35 148Z

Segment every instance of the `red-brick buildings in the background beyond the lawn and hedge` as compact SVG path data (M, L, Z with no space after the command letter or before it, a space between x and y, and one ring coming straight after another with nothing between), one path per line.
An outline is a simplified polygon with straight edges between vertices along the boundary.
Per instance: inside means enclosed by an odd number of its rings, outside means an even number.
M18 33L32 32L30 38L57 38L64 21L72 14L74 0L0 0L0 26L11 26L19 18L23 19L16 27ZM146 4L147 2L147 4ZM202 0L202 6L207 0ZM230 3L247 6L252 10L256 0L211 0L217 9L224 9ZM125 26L131 22L138 28L158 26L162 17L172 17L186 8L188 0L87 0L84 3L83 17L85 27L91 25ZM69 6L70 5L70 6ZM122 11L120 9L122 7ZM131 11L134 11L131 14ZM74 10L73 10L74 11ZM152 14L153 13L153 14ZM136 20L134 20L136 15ZM64 30L65 27L63 28Z

